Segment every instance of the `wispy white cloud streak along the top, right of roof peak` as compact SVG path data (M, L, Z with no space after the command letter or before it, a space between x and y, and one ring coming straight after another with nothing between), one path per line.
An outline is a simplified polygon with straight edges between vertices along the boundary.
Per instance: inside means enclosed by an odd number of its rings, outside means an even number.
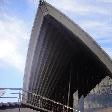
M103 15L111 14L109 10L102 8L101 6L95 6L92 4L88 4L87 2L84 4L82 2L78 2L78 0L61 0L61 2L59 0L47 1L53 4L58 9L72 13L75 12L81 15L87 15L91 13Z

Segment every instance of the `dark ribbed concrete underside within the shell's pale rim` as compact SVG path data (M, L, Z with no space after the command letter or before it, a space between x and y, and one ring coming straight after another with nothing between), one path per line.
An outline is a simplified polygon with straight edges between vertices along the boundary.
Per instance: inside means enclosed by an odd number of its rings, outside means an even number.
M109 71L78 37L51 16L45 16L37 41L29 90L67 104L72 95L86 95ZM72 104L71 104L72 105Z

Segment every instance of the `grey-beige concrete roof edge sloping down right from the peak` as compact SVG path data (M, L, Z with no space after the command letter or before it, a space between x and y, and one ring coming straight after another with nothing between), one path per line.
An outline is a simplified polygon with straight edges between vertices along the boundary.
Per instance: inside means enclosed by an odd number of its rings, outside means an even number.
M43 16L48 14L54 17L58 22L76 35L98 57L98 59L103 62L111 72L110 75L112 75L112 59L87 32L46 1L42 1L40 9L43 12Z

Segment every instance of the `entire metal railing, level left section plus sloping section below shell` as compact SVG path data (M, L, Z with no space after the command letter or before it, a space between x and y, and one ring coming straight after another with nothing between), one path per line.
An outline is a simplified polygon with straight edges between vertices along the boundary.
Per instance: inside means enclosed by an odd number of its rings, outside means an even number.
M63 105L59 102L53 101L46 97L37 95L35 93L22 90L21 88L0 88L0 91L17 91L11 92L10 94L13 96L0 96L0 99L16 99L16 101L21 102L24 105L28 105L35 109L43 110L45 112L80 112L76 109L70 108L66 105ZM9 94L8 94L9 95ZM16 96L15 96L16 95ZM9 100L10 101L10 100Z

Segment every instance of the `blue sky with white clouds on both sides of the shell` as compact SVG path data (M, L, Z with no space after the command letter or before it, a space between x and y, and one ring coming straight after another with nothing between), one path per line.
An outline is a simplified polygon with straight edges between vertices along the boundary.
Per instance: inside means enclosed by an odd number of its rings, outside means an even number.
M112 59L112 0L46 0L82 27ZM0 88L22 88L38 0L0 0Z

